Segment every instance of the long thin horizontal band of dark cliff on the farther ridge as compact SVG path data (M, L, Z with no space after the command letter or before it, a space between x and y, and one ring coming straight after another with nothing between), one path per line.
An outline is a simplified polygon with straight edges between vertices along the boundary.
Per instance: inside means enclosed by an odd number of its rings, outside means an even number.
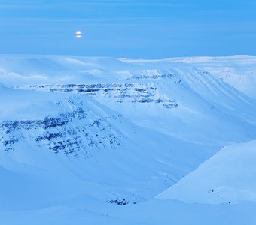
M101 96L118 103L156 103L167 109L178 107L175 99L162 97L154 83L30 85L20 88L48 92L83 93L95 99Z

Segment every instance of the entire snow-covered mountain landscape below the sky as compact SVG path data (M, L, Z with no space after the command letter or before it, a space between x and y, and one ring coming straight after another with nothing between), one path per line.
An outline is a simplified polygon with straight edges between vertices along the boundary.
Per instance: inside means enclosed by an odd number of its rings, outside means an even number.
M256 57L0 55L0 224L255 224Z

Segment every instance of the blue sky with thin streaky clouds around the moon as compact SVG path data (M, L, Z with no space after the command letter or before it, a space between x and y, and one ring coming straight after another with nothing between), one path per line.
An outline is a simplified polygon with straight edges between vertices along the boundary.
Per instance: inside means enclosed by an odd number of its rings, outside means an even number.
M255 0L0 0L2 54L168 58L255 52Z

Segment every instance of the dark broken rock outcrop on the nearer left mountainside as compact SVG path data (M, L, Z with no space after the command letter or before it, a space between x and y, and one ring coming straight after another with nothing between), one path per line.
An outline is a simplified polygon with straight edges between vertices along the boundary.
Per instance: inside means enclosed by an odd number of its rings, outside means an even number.
M19 142L29 142L30 147L47 148L56 154L90 157L94 151L120 145L123 136L111 127L111 121L118 120L119 114L96 115L79 97L56 104L60 111L58 115L0 122L0 148L16 151Z

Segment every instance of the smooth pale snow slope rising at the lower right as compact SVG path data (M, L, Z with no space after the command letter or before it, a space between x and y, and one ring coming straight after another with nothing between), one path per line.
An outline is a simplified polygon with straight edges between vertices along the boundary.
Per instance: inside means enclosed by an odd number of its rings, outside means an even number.
M256 141L225 147L157 198L205 204L255 202L255 158Z

